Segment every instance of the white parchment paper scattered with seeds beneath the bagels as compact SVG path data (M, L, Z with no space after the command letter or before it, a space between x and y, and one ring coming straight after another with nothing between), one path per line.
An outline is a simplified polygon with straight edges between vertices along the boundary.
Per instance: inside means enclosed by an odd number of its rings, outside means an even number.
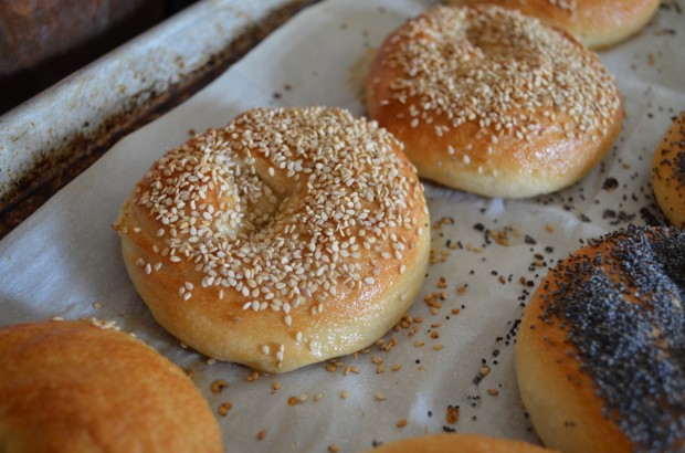
M516 319L547 266L580 241L629 221L663 221L649 167L671 117L685 108L678 2L665 2L639 36L600 54L616 76L626 119L612 151L580 183L512 201L426 182L432 264L409 310L421 323L335 365L256 376L182 348L135 293L109 228L135 182L190 129L223 126L252 106L329 105L362 115L355 81L368 52L432 3L322 2L187 103L122 140L0 242L0 324L53 316L115 320L192 372L230 451L355 452L444 431L538 442L514 375ZM217 379L229 388L214 393ZM231 409L221 415L224 402Z

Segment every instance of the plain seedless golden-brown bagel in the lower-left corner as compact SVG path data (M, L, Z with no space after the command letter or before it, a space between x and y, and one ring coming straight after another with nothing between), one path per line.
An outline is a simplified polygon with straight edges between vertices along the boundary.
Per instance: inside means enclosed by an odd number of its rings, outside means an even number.
M222 452L186 373L87 322L0 327L0 451Z

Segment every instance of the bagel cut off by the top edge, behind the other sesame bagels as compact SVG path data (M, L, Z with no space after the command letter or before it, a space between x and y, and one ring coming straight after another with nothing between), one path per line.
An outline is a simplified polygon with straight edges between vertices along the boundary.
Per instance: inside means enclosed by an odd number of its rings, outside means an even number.
M637 34L658 10L660 0L447 0L512 8L571 33L590 49L615 45Z

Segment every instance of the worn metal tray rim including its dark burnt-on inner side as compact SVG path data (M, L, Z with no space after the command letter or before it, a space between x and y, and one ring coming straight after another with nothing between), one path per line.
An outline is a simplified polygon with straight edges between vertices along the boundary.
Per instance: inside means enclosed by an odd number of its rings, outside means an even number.
M204 0L0 117L0 238L316 0Z

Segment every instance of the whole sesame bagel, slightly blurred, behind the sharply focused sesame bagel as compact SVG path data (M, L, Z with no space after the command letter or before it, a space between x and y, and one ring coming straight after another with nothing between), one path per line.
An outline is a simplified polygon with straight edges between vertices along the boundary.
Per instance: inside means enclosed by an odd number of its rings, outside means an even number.
M435 7L396 30L367 75L367 108L420 176L506 198L578 181L623 122L592 52L493 6Z

